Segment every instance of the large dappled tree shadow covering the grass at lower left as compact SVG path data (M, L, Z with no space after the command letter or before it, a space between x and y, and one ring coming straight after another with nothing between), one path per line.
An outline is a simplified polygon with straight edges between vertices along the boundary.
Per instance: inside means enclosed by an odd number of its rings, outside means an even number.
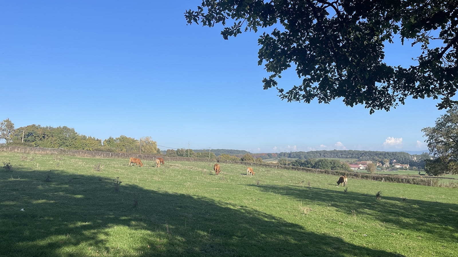
M0 256L393 256L246 206L125 183L116 191L114 180L0 174Z

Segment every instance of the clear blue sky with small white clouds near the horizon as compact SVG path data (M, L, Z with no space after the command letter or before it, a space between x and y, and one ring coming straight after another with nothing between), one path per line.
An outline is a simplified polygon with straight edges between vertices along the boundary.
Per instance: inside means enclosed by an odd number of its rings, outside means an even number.
M372 115L341 100L281 101L262 89L259 34L224 40L221 27L186 25L200 0L0 3L0 120L16 128L151 136L161 150L419 151L420 130L445 113L432 99ZM388 46L387 63L408 65L407 45ZM290 70L279 86L298 81Z

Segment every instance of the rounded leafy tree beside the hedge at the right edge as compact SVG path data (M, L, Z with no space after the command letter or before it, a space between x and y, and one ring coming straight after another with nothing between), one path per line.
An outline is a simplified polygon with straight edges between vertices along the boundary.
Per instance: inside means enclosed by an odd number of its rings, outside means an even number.
M426 170L434 175L457 173L458 168L458 105L436 119L434 127L421 130L435 160L425 160Z

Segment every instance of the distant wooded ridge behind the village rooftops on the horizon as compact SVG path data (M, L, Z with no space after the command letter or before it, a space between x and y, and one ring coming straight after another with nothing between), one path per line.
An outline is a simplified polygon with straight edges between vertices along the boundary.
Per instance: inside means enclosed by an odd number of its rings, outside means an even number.
M421 155L410 155L406 152L382 152L382 151L362 151L362 150L320 150L308 152L281 152L279 158L297 158L300 160L322 159L322 158L341 158L357 159L358 161L374 161L382 164L392 164L396 161L400 164L409 164L419 168L425 167L425 160L431 159L428 153Z

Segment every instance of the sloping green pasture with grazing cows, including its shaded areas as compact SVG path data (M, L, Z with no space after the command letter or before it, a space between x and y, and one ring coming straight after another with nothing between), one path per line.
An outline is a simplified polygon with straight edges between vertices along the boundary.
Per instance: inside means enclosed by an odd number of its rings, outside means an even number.
M455 188L127 164L0 152L0 256L458 256Z

